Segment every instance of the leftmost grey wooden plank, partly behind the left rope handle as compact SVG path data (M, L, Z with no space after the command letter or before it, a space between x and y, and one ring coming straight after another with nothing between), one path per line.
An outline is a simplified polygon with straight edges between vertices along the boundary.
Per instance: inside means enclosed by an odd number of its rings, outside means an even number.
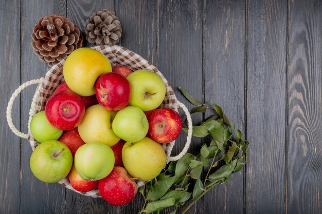
M1 150L0 213L20 212L20 139L11 132L6 120L7 104L20 85L20 1L0 3L0 86ZM14 102L12 119L20 128L20 98Z

